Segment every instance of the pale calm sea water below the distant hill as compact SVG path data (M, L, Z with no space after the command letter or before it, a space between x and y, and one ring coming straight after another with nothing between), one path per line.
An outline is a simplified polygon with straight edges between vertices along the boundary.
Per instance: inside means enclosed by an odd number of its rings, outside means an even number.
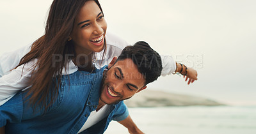
M157 107L129 108L134 123L152 134L255 134L256 107ZM105 134L128 133L111 121Z

